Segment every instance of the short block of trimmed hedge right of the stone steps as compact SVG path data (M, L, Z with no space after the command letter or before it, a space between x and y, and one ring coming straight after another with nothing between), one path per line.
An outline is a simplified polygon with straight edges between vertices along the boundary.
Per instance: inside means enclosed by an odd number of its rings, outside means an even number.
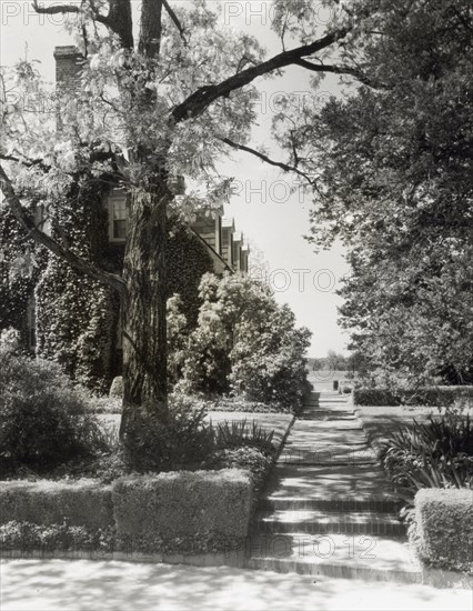
M414 541L431 565L473 571L473 490L422 489L414 501Z

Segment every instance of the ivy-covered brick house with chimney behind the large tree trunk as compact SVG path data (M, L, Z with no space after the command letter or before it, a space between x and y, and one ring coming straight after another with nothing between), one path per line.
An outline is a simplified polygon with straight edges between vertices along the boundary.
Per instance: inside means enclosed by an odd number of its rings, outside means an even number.
M54 52L57 81L70 87L78 73L73 47ZM43 229L43 207L34 211ZM71 248L109 271L122 269L127 236L124 192L92 180L68 193L57 227ZM193 226L170 219L169 294L182 299L189 329L197 323L199 282L203 273L248 271L249 249L223 207ZM7 208L0 208L0 330L13 327L24 347L61 363L74 379L105 392L121 370L120 307L113 291L77 272L37 247ZM8 246L8 249L4 248Z

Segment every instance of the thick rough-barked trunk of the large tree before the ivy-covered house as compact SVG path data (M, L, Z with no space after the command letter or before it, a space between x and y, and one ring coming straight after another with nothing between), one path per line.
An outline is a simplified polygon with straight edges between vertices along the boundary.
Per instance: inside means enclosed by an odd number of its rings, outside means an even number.
M167 380L167 208L165 182L134 189L123 266L123 413L120 435L137 408L168 410Z

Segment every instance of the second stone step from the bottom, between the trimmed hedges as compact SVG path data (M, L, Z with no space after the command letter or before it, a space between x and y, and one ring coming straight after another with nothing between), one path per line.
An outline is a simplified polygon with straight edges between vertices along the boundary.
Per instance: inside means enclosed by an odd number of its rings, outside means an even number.
M260 534L301 531L311 534L405 535L405 527L395 513L370 511L342 513L305 509L260 512L255 515L254 530Z

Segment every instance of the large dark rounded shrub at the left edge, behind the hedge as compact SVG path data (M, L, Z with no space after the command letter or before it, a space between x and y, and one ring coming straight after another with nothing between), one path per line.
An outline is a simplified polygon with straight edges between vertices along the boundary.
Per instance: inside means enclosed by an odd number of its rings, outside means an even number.
M51 467L104 448L85 399L54 363L0 345L0 455Z

